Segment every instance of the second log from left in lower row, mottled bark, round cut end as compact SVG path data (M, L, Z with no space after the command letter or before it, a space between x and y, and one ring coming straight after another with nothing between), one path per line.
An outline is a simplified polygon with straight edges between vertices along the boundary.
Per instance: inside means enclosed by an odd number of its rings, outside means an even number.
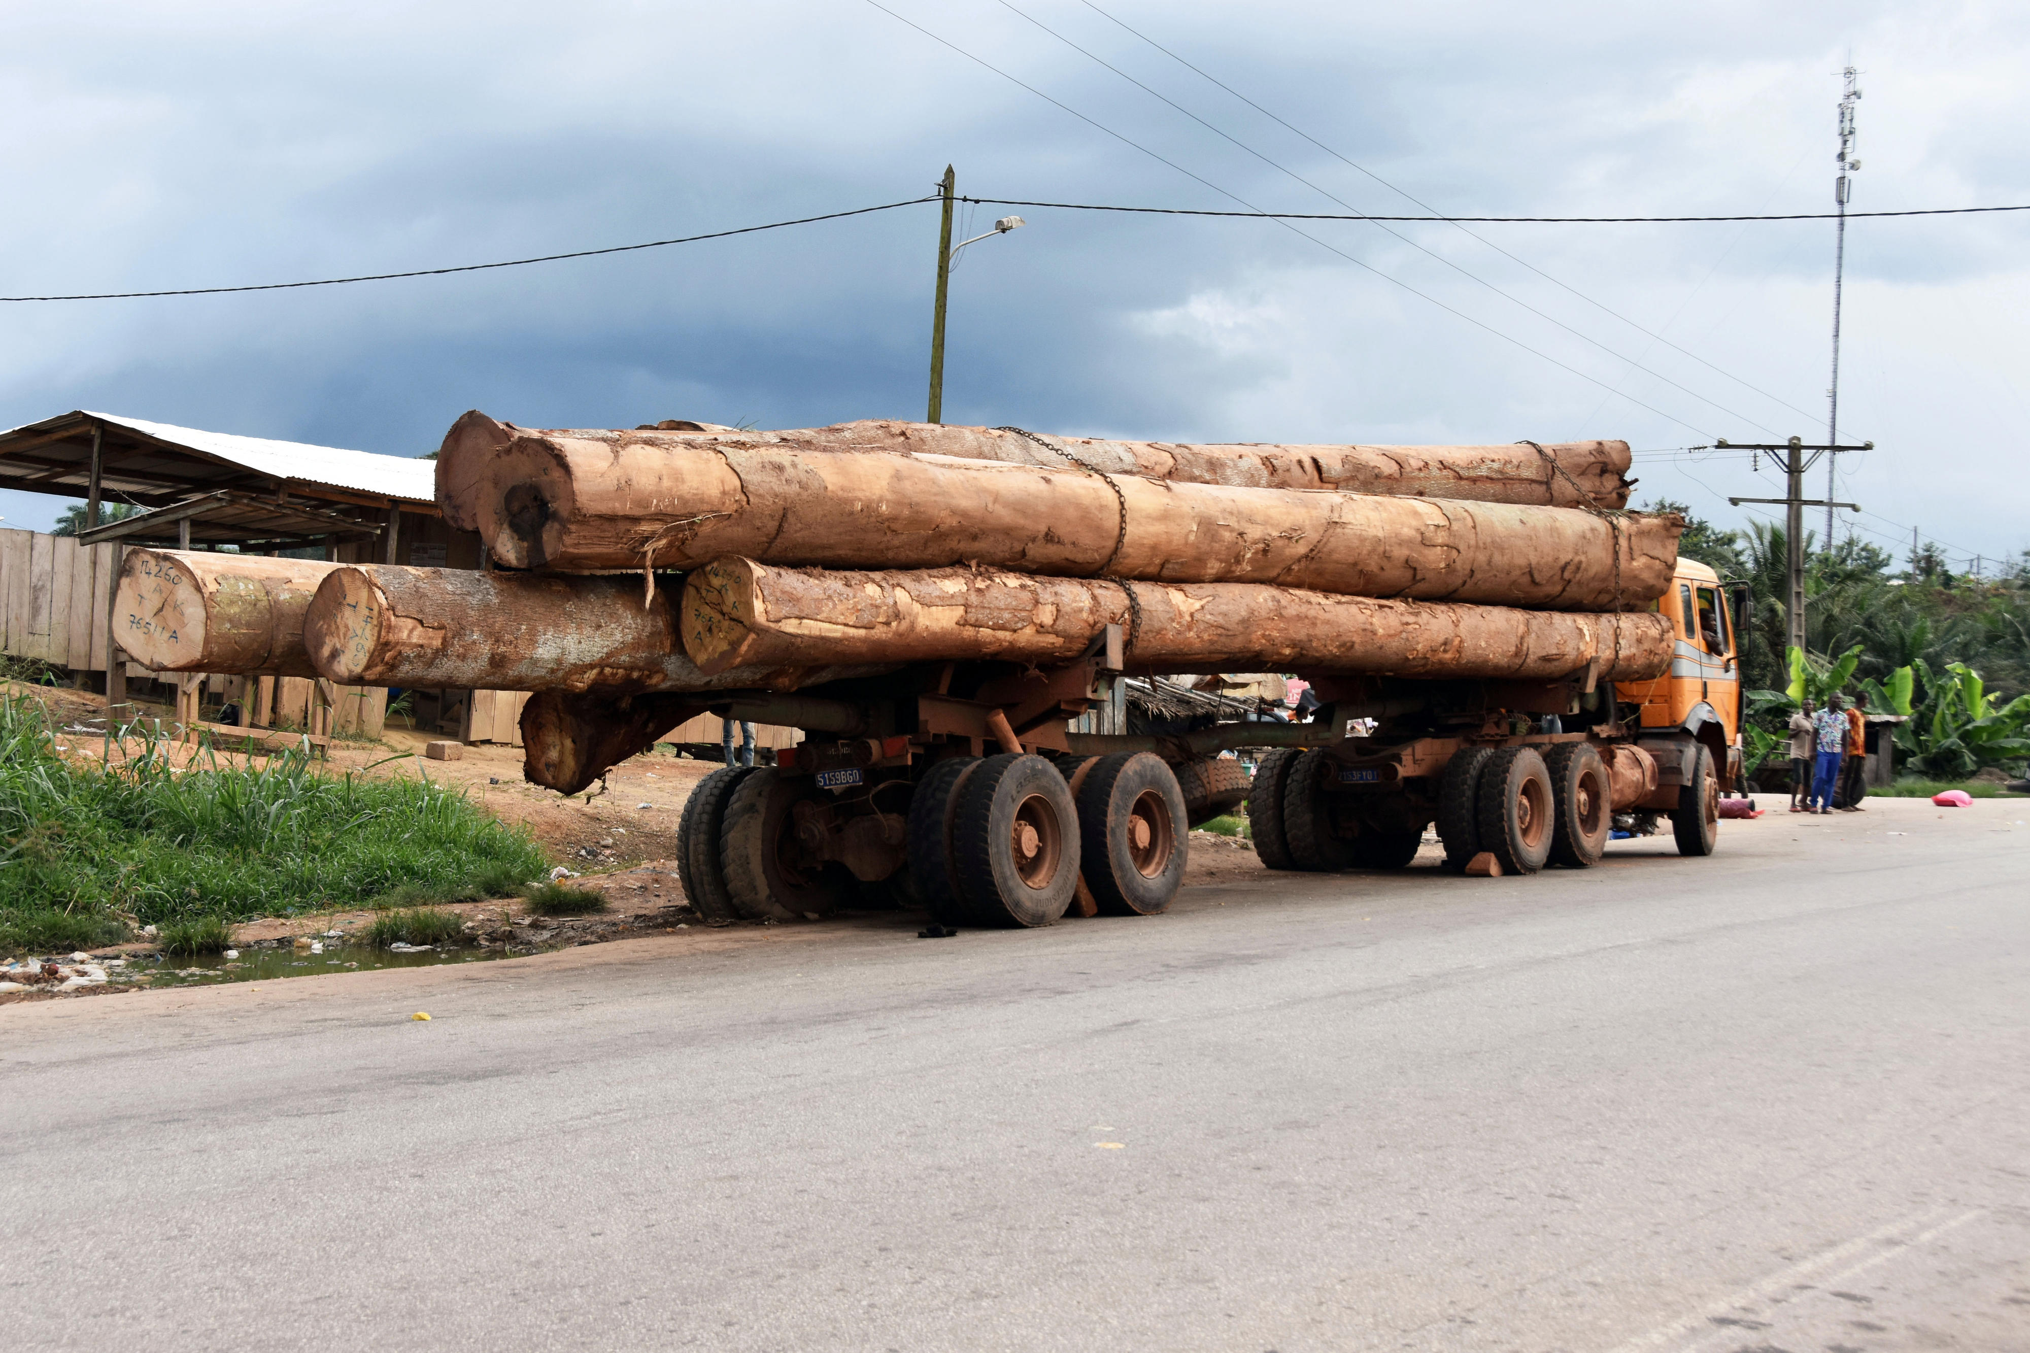
M637 577L333 567L302 622L341 685L422 691L792 691L887 666L735 668L706 676L676 638L676 589Z

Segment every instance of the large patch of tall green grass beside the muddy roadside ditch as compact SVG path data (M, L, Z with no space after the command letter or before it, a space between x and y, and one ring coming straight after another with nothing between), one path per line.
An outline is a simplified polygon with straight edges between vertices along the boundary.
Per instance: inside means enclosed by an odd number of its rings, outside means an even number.
M546 867L526 831L438 784L335 776L302 756L240 768L199 754L177 768L160 744L112 772L73 766L32 697L0 697L8 953L81 949L142 922L365 906L404 888L507 896Z

